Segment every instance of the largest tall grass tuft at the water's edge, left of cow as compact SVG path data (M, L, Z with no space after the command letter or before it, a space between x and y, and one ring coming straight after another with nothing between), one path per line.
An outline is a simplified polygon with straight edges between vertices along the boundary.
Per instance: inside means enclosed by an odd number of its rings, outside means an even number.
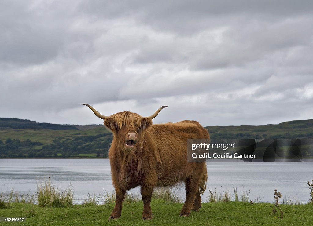
M67 190L62 191L52 186L50 178L37 183L36 194L39 207L69 207L73 206L74 203L74 193L71 184Z

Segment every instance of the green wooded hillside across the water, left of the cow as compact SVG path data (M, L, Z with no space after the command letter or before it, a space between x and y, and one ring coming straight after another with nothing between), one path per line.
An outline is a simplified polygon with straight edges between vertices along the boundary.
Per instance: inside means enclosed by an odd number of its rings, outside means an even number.
M111 141L112 133L101 125L0 118L0 158L107 157Z

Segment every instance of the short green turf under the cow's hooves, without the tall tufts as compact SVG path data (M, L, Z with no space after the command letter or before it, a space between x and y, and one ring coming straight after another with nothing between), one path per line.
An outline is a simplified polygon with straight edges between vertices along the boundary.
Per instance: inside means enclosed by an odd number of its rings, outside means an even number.
M0 217L26 217L24 223L0 225L312 225L313 204L282 204L276 214L273 203L218 202L203 203L199 212L179 217L182 203L166 204L161 199L151 201L153 218L141 219L142 202L124 203L121 218L107 221L114 204L68 208L38 207L38 205L12 203L1 209ZM281 214L283 211L283 214ZM282 215L282 218L281 218Z

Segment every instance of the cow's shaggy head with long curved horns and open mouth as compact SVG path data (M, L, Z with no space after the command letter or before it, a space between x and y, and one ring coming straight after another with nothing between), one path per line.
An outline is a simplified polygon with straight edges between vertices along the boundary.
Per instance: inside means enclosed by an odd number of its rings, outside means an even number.
M104 125L109 128L116 139L117 145L122 150L131 150L143 142L144 131L152 125L152 119L167 106L162 106L155 113L148 117L141 117L139 114L128 111L115 113L111 116L100 114L89 104L82 103L89 107L96 116L104 120ZM140 145L141 146L141 145Z

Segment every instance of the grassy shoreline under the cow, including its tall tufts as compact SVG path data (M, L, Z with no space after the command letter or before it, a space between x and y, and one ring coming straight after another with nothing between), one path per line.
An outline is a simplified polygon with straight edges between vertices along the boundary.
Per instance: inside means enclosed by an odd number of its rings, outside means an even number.
M124 200L121 218L108 222L107 219L115 204L113 193L105 192L102 196L89 194L82 205L66 204L73 202L71 186L61 191L48 179L38 183L36 192L38 204L33 203L33 196L18 195L13 189L7 196L1 193L0 205L4 203L4 206L0 211L0 217L26 217L26 222L19 223L20 225L254 225L256 222L259 225L310 225L312 222L312 203L278 204L278 198L281 196L277 192L274 200L275 209L273 203L238 201L248 200L249 195L244 191L238 197L237 187L233 188L235 201L231 200L229 190L218 193L215 189L214 192L210 192L215 194L212 197L217 201L202 203L199 212L192 211L187 218L178 216L183 204L177 195L168 188L158 188L151 200L153 218L148 222L141 220L143 210L141 199L138 195L130 193ZM98 204L100 198L105 204ZM12 223L0 223L8 224Z

